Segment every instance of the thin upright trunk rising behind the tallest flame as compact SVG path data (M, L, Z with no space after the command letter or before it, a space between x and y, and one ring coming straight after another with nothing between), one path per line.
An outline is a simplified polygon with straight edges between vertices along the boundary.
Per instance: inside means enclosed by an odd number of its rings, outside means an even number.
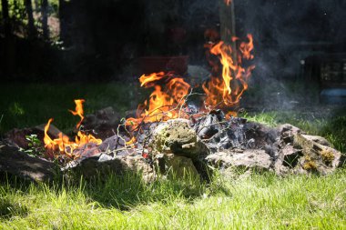
M234 0L219 0L219 22L221 40L231 45L232 59L237 64L237 46L232 42L232 36L236 36L236 19L234 15Z

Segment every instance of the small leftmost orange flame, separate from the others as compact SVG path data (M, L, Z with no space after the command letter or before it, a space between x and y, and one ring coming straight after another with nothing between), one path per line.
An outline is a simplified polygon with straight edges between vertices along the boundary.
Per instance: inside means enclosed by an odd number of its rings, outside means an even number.
M71 112L74 115L76 113L76 115L79 115L82 118L81 121L77 125L77 127L79 127L80 123L83 121L83 118L84 118L82 103L85 102L85 100L83 100L83 99L75 100L75 102L76 102L76 112L74 112L74 111L71 111ZM58 138L52 139L47 134L47 132L49 130L49 126L52 122L53 122L53 118L50 118L48 120L48 123L45 126L44 143L45 143L46 149L49 151L52 151L52 152L59 151L60 154L62 154L62 155L67 155L70 158L74 158L74 157L76 157L76 155L74 155L74 151L78 147L80 147L82 145L90 144L90 143L95 144L95 145L101 145L102 144L101 139L97 139L93 135L83 134L81 131L78 131L74 142L70 141L68 136L63 135L62 133L58 134Z

